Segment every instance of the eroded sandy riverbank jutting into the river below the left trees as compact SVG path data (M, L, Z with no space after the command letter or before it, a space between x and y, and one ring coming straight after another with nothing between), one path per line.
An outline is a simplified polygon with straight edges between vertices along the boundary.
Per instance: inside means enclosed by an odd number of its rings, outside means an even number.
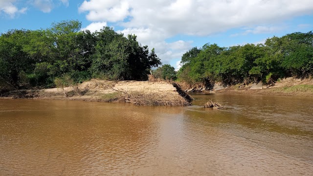
M66 88L14 90L2 98L129 102L146 106L188 106L192 98L175 83L91 79Z

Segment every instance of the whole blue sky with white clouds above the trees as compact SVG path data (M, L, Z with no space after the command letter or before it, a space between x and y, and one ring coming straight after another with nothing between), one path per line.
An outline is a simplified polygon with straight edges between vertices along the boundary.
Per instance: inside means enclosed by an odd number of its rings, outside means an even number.
M110 26L155 48L179 68L197 46L262 44L273 36L313 30L312 0L0 0L0 33L46 29L78 20L81 30Z

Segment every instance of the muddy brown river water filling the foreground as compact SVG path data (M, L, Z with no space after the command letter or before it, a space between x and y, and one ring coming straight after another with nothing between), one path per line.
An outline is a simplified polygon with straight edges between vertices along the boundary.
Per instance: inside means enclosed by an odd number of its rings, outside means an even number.
M313 99L193 105L0 99L0 175L313 176Z

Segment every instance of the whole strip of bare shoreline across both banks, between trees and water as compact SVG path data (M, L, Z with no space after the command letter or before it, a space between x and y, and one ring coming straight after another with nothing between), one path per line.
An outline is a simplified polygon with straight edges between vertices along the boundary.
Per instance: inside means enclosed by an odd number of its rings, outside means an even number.
M278 96L313 97L313 79L286 78L271 86L261 85L252 88L253 84L242 84L203 90L193 88L190 93L236 93ZM197 89L202 89L197 91ZM149 81L105 81L91 79L82 84L66 88L14 90L0 99L44 99L75 100L89 102L127 102L144 106L189 106L193 99L177 83Z

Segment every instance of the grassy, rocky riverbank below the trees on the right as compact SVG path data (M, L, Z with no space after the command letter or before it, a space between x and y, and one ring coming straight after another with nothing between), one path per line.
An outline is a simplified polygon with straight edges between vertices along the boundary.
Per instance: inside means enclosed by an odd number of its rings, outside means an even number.
M223 86L216 83L212 88L196 87L184 88L185 91L206 92L206 93L244 93L244 94L268 94L286 96L310 96L313 97L313 79L284 78L270 85L259 84L237 84Z

